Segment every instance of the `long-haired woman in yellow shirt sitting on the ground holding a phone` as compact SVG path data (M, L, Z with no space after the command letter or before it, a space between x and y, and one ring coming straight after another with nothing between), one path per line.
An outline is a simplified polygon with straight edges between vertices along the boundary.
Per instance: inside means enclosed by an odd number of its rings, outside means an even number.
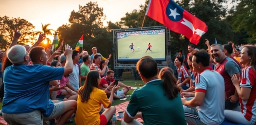
M113 94L118 90L119 86L114 86L114 82L105 90L99 89L100 75L98 71L89 71L85 84L78 91L77 110L75 114L76 125L107 125L108 121L116 113L116 108L111 106L113 102ZM110 99L106 93L110 90ZM101 105L108 108L102 114L99 114Z

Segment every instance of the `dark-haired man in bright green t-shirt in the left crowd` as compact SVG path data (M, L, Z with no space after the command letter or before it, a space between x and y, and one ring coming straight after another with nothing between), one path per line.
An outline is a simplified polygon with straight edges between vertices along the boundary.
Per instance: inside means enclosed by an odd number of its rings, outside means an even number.
M83 59L83 64L81 65L81 84L82 86L85 84L85 79L86 79L86 75L87 73L90 71L90 68L89 68L89 65L90 65L90 62L91 62L91 58L90 58L90 55L84 55L82 57Z

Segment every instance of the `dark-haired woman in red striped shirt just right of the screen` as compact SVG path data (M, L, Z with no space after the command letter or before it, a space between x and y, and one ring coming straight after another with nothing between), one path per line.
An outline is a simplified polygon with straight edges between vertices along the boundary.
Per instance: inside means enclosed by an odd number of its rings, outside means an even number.
M187 68L182 64L183 58L177 56L174 61L174 65L178 68L177 71L179 80L177 81L177 87L186 90L189 88L190 77Z

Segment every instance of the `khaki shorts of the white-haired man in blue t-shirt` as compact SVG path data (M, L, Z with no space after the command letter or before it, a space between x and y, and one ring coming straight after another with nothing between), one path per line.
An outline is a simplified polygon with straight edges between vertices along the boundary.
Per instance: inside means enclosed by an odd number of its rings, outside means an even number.
M61 116L65 109L64 102L54 103L54 109L49 117L44 117L41 111L36 110L31 113L24 114L5 114L4 120L9 125L42 125L43 121L49 121L55 117Z

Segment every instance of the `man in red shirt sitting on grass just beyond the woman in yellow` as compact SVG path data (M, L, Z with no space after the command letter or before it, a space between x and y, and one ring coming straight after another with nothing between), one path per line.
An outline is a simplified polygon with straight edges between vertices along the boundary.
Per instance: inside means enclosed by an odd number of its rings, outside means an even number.
M108 70L107 75L105 77L101 78L99 88L101 90L107 89L109 87L110 83L115 81L115 79L113 79L113 77L114 77L114 71ZM114 98L116 98L116 99L125 98L125 93L127 93L129 90L131 90L132 86L127 86L127 85L123 84L122 82L118 82L118 83L121 87L124 87L124 88L117 90L114 94ZM110 97L110 94L111 94L111 91L109 91L107 93L107 96Z

